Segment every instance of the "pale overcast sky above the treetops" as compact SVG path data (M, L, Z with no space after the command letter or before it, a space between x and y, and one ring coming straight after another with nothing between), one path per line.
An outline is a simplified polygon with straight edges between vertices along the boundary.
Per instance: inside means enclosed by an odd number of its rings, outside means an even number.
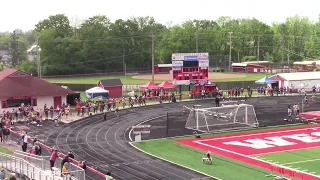
M163 24L221 16L255 17L271 24L295 15L316 21L320 14L320 0L3 0L0 7L0 32L32 30L55 14L67 15L72 24L94 15L106 15L111 21L152 16Z

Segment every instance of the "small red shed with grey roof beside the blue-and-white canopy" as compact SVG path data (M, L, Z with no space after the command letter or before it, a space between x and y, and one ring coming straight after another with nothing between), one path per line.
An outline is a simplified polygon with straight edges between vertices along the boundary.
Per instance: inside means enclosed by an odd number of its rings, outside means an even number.
M98 86L109 91L110 98L119 98L123 96L122 82L120 79L100 80Z

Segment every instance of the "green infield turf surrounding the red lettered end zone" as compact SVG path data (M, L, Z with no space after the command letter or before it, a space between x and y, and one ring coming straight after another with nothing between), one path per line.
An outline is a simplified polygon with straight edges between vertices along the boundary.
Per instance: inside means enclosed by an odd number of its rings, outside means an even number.
M265 131L279 131L280 128L286 126L279 126L277 128L264 128ZM304 125L294 125L291 128L304 128ZM320 129L319 129L320 131ZM256 131L246 131L246 133L255 133ZM237 132L239 133L239 131ZM243 133L243 132L241 132ZM319 132L320 133L320 132ZM221 137L229 134L215 134L208 135L211 137ZM256 165L247 164L244 161L228 158L219 153L213 152L213 164L207 165L201 162L202 156L206 151L186 146L177 143L176 140L185 140L190 137L180 137L175 139L158 139L144 141L140 143L132 143L137 148L155 155L157 157L169 160L171 162L186 166L188 168L203 172L205 174L223 179L223 180L238 180L238 179L273 179L268 177L270 174L277 174L268 168L258 167ZM203 138L205 138L203 136ZM217 146L219 147L219 146ZM234 149L234 151L237 151ZM252 155L257 159L266 162L282 165L294 170L308 172L313 175L319 175L320 169L320 148L302 148L300 150L286 150L282 152L271 152L260 155ZM294 179L294 178L292 178ZM308 179L308 178L306 178Z

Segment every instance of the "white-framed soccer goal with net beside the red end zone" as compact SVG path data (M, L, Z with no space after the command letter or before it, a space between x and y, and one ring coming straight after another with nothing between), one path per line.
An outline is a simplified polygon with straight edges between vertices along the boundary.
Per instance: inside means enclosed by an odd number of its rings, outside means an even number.
M259 126L254 107L249 104L212 108L196 105L193 108L185 108L190 110L185 126L187 129L212 132Z

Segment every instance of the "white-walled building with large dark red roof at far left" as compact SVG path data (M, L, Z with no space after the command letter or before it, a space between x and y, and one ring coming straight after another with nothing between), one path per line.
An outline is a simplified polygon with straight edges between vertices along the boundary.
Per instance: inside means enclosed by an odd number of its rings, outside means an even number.
M22 103L34 109L56 108L66 103L66 96L74 92L51 84L18 69L0 72L0 100L2 111L17 109Z

